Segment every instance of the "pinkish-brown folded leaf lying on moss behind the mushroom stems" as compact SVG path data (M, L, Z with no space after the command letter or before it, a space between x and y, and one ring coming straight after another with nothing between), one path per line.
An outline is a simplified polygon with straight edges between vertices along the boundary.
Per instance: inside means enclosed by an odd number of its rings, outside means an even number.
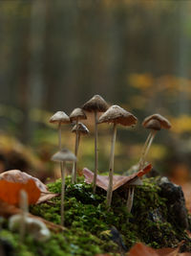
M122 175L114 175L113 176L113 191L117 190L119 187L124 186L124 188L138 177L149 173L152 169L152 165L147 165L143 170L139 171L136 174L129 175L129 176L122 176ZM83 175L85 176L85 182L88 184L93 183L94 180L94 173L88 170L87 168L83 169ZM99 188L104 189L107 191L109 184L109 176L108 175L97 175L96 176L96 186Z

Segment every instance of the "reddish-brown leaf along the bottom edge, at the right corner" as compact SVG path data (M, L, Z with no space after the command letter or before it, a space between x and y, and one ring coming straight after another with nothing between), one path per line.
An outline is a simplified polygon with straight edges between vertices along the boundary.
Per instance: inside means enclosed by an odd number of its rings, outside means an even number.
M161 249L153 249L144 244L138 243L135 244L129 253L128 256L191 256L189 252L180 253L180 245L177 248L161 248Z

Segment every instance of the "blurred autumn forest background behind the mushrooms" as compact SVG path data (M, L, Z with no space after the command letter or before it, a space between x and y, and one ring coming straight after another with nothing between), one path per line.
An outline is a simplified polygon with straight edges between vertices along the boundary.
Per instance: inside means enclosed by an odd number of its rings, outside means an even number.
M148 161L186 179L191 166L191 1L0 1L1 169L51 172L57 150L53 112L70 114L95 94L138 117L118 128L116 173L138 162L150 114L171 130L157 134ZM82 138L80 168L94 169L94 127ZM63 145L74 151L71 126ZM99 170L107 172L110 126L99 126ZM5 156L6 155L6 159ZM5 160L5 161L4 161ZM6 164L5 164L6 162ZM6 167L5 167L6 166Z

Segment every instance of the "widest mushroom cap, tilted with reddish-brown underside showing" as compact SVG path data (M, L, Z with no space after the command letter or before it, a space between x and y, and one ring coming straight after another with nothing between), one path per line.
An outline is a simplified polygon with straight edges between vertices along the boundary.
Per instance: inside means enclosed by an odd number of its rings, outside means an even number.
M118 105L112 105L103 113L98 120L98 123L115 123L125 127L136 125L138 119L130 112Z

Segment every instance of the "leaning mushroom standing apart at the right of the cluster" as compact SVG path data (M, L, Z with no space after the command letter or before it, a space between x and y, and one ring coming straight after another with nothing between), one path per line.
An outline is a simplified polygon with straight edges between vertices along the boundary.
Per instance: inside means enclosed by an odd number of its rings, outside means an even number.
M151 129L151 131L150 131L150 133L146 139L146 142L143 146L141 156L139 159L138 170L141 170L144 167L145 157L151 147L151 144L156 136L157 131L160 130L161 128L166 128L166 129L171 128L170 122L166 118L164 118L163 116L161 116L159 114L153 114L153 115L146 117L142 122L142 126L144 128Z

